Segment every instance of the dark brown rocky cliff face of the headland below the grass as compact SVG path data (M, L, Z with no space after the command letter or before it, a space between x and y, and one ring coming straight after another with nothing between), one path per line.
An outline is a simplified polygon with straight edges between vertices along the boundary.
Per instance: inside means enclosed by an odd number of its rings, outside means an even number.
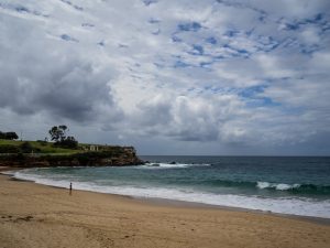
M9 166L125 166L143 164L132 147L112 147L68 155L10 154L0 157L0 165Z

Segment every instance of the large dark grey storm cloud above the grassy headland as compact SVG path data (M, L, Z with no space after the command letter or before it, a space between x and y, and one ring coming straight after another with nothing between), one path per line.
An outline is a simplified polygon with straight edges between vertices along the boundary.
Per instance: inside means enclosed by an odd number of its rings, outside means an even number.
M113 69L106 69L59 40L45 40L31 23L7 18L0 43L0 107L21 115L45 112L56 118L90 121L111 111ZM103 112L106 111L106 112ZM110 116L112 116L110 115Z

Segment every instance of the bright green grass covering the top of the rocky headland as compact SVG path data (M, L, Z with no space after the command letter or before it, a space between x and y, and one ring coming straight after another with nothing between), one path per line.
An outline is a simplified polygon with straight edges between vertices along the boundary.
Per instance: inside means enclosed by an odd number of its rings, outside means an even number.
M32 144L32 147L40 149L40 153L52 153L52 154L74 154L74 153L79 153L82 152L82 150L77 149L64 149L64 148L55 148L53 147L52 142L46 142L46 143L42 143L38 141L29 141L29 140L24 140L24 141L15 141L15 140L2 140L0 139L0 145L4 145L4 144L10 144L10 145L20 145L24 142L29 142Z

